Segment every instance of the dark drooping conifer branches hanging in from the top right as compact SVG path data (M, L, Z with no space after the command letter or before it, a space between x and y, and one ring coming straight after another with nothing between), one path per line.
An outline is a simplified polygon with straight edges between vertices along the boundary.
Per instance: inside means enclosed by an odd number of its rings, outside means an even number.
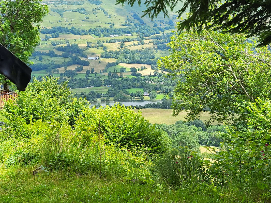
M135 0L117 0L117 4L127 2L133 6ZM168 9L173 11L181 0L165 1L145 1L147 7L144 15L151 19L157 17L159 13L164 13L164 17L169 17ZM137 1L138 5L141 0ZM177 14L180 18L190 9L188 17L178 24L178 31L193 30L201 32L206 25L207 29L223 30L224 33L245 33L247 36L259 36L260 46L271 42L271 2L270 1L233 1L226 0L221 3L220 0L186 0L182 8L178 8Z

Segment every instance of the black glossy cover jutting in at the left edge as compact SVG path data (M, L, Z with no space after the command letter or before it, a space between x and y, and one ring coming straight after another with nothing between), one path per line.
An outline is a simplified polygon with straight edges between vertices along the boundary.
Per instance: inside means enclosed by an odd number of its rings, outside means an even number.
M24 91L31 79L32 69L6 47L0 44L0 73L16 84L19 91Z

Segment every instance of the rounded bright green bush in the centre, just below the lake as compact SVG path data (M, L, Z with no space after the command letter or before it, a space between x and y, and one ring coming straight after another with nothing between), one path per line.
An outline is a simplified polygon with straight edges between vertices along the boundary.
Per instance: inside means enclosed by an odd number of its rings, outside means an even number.
M148 153L164 152L169 146L168 137L155 130L155 126L144 120L140 113L134 113L129 107L115 105L85 109L84 117L76 121L75 129L82 134L82 140L89 142L89 138L100 133L105 143L125 147L131 151L143 150Z

